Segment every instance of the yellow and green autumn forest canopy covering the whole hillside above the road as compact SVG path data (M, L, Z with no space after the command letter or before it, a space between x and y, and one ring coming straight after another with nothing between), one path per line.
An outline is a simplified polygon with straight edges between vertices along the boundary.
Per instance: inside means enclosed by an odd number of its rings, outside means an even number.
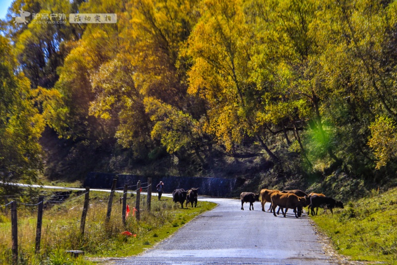
M165 150L203 174L216 154L396 177L395 0L14 0L1 32L2 181L56 171L44 128L68 174Z

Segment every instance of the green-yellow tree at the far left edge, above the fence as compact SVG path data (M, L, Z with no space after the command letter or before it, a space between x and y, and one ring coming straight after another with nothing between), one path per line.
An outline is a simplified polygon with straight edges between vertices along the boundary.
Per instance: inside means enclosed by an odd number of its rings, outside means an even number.
M34 183L43 169L44 121L30 100L29 80L16 66L8 40L0 36L0 178Z

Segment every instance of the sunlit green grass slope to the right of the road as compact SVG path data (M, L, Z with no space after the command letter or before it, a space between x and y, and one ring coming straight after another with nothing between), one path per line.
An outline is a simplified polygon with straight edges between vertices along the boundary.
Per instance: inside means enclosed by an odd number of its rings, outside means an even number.
M312 219L339 254L355 261L397 264L397 188L373 190L370 197L345 203L333 215L320 211Z

